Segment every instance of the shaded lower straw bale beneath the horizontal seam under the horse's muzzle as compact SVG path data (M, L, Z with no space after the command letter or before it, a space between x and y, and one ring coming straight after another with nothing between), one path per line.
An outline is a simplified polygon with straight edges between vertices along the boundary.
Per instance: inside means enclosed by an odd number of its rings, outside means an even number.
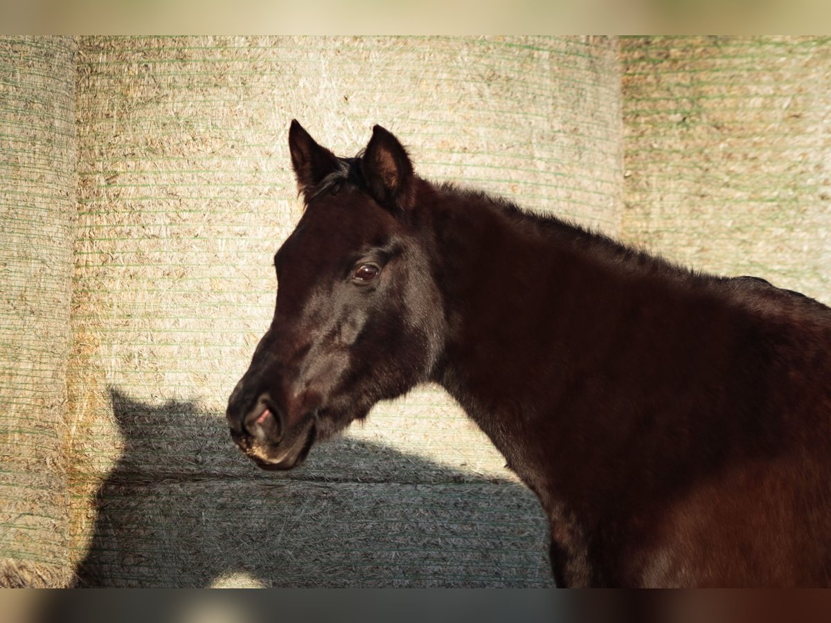
M112 483L79 586L549 586L517 487Z

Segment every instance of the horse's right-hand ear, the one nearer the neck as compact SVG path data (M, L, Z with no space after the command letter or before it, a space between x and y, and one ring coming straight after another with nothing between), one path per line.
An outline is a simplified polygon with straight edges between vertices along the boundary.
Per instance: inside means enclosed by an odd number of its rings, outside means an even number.
M380 125L372 128L361 169L370 193L387 208L412 207L413 165L395 136Z

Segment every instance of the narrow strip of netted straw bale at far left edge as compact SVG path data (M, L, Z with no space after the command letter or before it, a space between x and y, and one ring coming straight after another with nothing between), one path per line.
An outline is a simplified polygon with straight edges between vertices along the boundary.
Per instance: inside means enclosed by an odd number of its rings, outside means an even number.
M75 42L0 38L0 586L64 586Z

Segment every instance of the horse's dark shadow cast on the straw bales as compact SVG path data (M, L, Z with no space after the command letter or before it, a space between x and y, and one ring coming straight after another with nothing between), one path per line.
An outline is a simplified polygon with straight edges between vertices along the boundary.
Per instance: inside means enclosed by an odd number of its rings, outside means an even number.
M77 586L553 586L517 483L350 438L263 472L217 414L111 397L125 452Z

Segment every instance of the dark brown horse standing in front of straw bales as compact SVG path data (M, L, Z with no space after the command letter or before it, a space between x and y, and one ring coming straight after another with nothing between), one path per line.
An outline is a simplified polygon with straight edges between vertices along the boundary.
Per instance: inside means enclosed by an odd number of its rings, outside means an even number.
M265 469L435 382L538 497L557 586L831 586L831 309L415 173L297 120L304 211L229 397Z

